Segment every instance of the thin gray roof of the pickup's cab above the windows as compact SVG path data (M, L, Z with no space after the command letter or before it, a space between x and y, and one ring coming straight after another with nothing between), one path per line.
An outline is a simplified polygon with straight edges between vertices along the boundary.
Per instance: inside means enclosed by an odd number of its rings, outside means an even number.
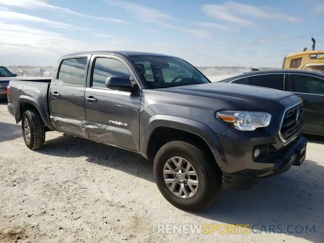
M152 52L136 52L136 51L88 51L88 52L75 52L69 53L61 58L69 57L69 56L80 56L80 55L89 55L89 54L112 54L117 56L164 56L164 57L175 57L160 53L152 53Z

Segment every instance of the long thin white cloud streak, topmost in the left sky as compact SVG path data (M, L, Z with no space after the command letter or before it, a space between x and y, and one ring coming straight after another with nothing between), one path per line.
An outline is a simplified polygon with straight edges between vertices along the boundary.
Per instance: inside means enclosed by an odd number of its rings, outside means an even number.
M72 11L68 8L47 4L44 0L0 0L0 5L9 7L21 7L25 9L47 9L52 11L64 12L70 15L86 17L90 19L102 20L113 23L126 23L126 21L117 18L98 17L82 14L79 12Z

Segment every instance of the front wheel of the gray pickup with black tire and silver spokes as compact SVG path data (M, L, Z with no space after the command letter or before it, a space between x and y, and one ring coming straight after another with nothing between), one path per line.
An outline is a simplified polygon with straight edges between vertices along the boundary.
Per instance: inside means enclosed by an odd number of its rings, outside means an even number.
M221 189L222 174L196 146L171 141L157 152L154 178L163 197L173 206L188 212L199 212L213 202Z

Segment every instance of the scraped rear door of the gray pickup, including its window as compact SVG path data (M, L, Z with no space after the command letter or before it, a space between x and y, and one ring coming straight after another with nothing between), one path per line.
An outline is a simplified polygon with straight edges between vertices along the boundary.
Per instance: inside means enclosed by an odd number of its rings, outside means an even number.
M56 130L87 137L84 92L90 56L64 58L53 74L49 105L50 118Z

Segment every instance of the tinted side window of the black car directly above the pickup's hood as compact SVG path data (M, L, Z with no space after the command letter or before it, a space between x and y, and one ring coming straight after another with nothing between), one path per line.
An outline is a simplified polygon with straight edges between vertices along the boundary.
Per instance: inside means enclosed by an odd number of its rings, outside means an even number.
M284 90L284 74L250 76L249 85Z

